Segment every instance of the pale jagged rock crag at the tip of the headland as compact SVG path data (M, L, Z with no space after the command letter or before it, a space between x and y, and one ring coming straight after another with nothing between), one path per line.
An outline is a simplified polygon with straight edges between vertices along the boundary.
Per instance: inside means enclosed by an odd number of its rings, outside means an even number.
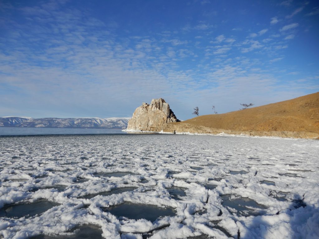
M143 103L136 108L126 130L160 132L163 129L163 125L179 121L164 99L152 99L150 105Z

